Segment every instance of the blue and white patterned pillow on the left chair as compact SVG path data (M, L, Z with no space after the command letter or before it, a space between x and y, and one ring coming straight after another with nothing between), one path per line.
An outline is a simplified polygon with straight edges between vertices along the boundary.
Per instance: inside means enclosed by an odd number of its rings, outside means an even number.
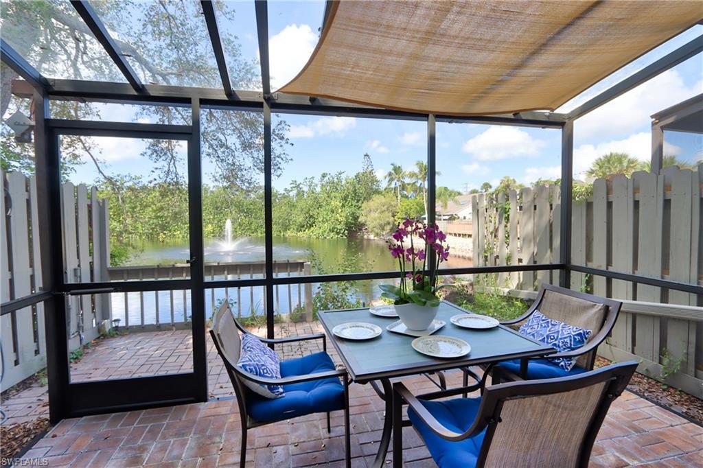
M280 359L276 351L263 344L251 333L245 333L242 337L242 348L237 365L257 377L280 379ZM254 393L266 398L283 396L283 386L262 385L247 379L242 379L242 382Z

